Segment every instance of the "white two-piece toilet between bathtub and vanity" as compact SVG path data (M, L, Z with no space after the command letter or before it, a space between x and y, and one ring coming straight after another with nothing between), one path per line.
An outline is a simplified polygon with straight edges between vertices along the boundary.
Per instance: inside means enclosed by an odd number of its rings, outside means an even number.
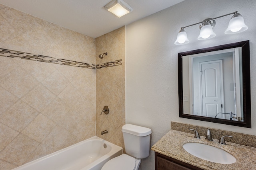
M127 154L109 160L101 170L138 170L140 159L149 156L151 129L126 124L122 127L122 132Z

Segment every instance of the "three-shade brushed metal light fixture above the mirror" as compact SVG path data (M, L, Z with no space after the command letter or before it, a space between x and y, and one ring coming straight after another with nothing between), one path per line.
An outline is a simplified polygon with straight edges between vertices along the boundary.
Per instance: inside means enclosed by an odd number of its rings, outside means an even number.
M212 30L216 24L215 20L218 18L222 18L224 16L232 15L232 14L234 14L234 15L232 16L231 20L229 21L228 28L226 29L225 34L235 34L235 33L240 33L240 32L247 30L248 27L244 23L244 18L242 17L241 14L238 13L238 11L232 12L230 14L226 14L223 16L219 16L216 18L208 18L202 22L194 23L194 24L188 25L186 27L191 27L193 25L200 24L199 25L200 34L197 39L198 40L210 39L210 38L213 38L216 36L214 31ZM180 28L180 31L177 35L177 39L174 44L183 45L183 44L189 43L187 33L184 30L184 28L186 28L186 27Z

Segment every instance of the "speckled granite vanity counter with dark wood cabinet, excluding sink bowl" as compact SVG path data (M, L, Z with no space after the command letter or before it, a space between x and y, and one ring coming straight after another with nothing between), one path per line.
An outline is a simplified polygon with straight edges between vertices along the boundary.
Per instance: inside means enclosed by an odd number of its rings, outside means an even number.
M170 130L162 137L152 150L155 151L156 170L252 170L256 167L256 148L226 142L226 145L218 143L219 140L206 141L205 137L194 138L194 134L182 131ZM215 163L198 158L188 153L183 145L186 143L201 143L222 149L236 158L232 164ZM200 150L200 149L199 149ZM210 152L214 154L214 152Z

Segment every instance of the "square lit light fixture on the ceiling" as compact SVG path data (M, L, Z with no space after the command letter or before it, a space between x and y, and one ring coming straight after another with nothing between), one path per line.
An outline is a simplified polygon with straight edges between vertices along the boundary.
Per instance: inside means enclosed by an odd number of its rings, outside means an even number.
M122 0L112 0L106 4L104 8L118 16L118 18L132 12L132 8Z

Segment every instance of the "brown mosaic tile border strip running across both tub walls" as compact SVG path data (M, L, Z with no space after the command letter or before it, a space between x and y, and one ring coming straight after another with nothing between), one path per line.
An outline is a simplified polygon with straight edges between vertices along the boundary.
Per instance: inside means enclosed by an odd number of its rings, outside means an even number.
M14 51L14 50L3 49L3 48L0 48L0 56L10 57L10 58L20 58L20 59L25 59L30 61L39 61L39 62L45 62L45 63L61 64L61 65L67 65L67 66L90 68L90 69L100 69L105 67L118 66L122 64L122 59L95 65L95 64L82 63L79 61L57 59L54 57L48 57L44 55L35 55L32 53Z

